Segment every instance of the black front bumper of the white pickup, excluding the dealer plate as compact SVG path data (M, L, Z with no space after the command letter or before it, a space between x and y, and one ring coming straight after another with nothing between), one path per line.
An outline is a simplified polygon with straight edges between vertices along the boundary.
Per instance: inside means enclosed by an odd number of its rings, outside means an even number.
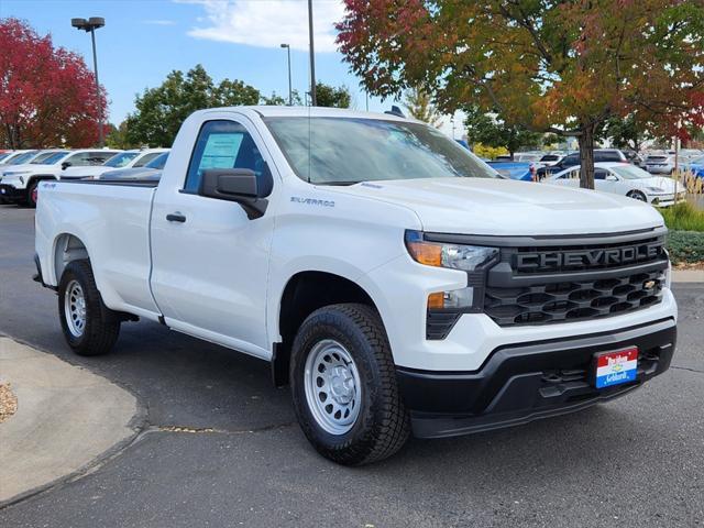
M479 371L397 369L414 435L441 438L526 424L622 396L662 374L674 353L676 327L662 319L618 332L499 346ZM638 346L635 382L596 389L596 352Z

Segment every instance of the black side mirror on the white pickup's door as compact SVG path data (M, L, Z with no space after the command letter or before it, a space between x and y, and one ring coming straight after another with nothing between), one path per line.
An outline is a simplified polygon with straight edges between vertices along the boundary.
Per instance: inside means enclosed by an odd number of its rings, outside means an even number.
M198 194L207 198L237 201L250 220L261 218L266 212L274 179L268 166L264 165L257 178L249 168L208 168L202 172Z

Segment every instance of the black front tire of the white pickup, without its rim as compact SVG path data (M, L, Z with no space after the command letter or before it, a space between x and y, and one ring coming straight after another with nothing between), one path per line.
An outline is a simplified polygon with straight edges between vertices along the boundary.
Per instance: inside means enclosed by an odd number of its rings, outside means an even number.
M306 361L323 340L334 340L346 349L360 377L359 416L341 435L320 426L306 398ZM373 308L343 304L314 311L294 340L289 374L300 427L323 457L339 464L361 465L386 459L406 443L410 433L408 413L398 393L386 331Z

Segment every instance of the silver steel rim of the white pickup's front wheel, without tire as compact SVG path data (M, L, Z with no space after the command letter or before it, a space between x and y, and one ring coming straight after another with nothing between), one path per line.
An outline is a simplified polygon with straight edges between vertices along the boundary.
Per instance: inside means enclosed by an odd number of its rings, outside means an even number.
M304 371L306 402L316 422L330 435L344 435L360 415L362 385L352 355L324 339L308 353Z

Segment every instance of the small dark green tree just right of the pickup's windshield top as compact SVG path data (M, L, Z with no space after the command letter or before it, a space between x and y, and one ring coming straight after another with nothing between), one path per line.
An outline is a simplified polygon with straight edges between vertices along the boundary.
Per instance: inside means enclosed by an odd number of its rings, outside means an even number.
M466 119L466 140L470 144L482 143L486 146L505 147L513 160L514 153L521 148L532 150L542 146L542 134L526 130L525 127L509 124L493 114L482 112L476 107L464 109Z

